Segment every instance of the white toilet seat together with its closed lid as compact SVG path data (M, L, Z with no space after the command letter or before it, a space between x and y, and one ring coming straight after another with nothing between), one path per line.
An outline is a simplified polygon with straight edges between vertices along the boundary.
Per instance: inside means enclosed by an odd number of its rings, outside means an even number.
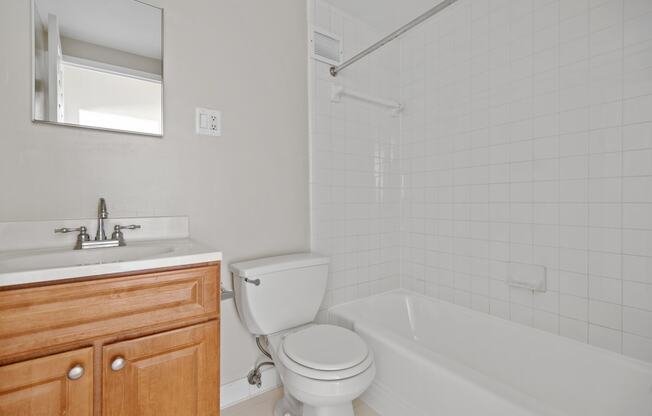
M342 380L364 372L373 354L358 334L334 325L313 325L286 336L278 348L288 370L316 380Z

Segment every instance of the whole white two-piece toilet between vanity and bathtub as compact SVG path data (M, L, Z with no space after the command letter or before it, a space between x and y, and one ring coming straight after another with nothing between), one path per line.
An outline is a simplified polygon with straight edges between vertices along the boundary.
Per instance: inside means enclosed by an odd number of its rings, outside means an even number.
M373 353L360 336L313 323L328 263L302 253L231 265L240 319L252 334L267 336L285 387L275 416L353 416L353 400L376 375Z

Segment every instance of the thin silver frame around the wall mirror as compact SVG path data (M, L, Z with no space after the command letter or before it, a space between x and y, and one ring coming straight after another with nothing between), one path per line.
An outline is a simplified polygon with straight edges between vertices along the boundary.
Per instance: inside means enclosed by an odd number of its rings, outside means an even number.
M156 137L156 138L163 138L163 135L165 134L165 9L162 7L154 6L149 3L146 3L141 0L132 0L137 3L142 3L146 6L153 7L155 9L158 9L161 11L161 134L153 134L153 133L143 133L139 131L132 131L132 130L121 130L121 129L110 129L106 127L94 127L94 126L84 126L81 124L72 124L72 123L55 123L53 121L48 121L48 120L38 120L36 119L36 114L35 114L35 106L36 106L36 91L35 91L35 83L36 83L36 35L35 35L35 30L36 27L34 26L34 14L36 13L36 1L37 0L31 0L31 10L30 10L30 28L31 28L31 34L30 34L30 40L32 42L31 45L31 51L32 51L32 56L31 56L31 66L32 66L32 76L31 76L31 84L30 84L30 89L31 89L31 114L32 114L32 123L38 123L38 124L47 124L51 126L62 126L62 127L76 127L76 128L82 128L82 129L87 129L87 130L96 130L96 131L106 131L106 132L111 132L111 133L122 133L122 134L133 134L133 135L138 135L138 136L148 136L148 137Z

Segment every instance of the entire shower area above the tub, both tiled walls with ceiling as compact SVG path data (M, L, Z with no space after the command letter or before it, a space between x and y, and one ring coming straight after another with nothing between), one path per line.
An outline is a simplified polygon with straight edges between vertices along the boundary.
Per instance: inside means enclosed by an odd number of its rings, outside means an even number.
M651 363L652 2L308 3L321 318L401 288Z

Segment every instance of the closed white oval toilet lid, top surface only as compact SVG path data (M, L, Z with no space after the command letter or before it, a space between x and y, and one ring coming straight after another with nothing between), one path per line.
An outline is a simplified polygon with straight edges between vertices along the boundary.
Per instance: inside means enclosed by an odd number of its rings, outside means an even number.
M358 334L334 325L314 325L288 335L283 350L298 364L327 371L353 367L369 355Z

